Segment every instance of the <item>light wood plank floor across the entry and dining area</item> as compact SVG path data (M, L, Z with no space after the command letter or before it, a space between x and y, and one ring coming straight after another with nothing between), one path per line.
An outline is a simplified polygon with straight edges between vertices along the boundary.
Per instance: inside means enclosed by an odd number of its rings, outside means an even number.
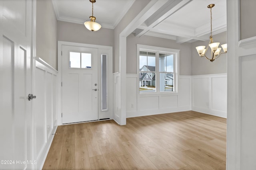
M58 126L43 169L225 170L226 119L195 111Z

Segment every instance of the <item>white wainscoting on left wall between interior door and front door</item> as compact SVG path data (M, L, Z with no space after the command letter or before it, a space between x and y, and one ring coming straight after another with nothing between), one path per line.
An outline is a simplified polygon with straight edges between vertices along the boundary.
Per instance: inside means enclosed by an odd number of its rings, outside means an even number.
M32 113L35 113L36 169L42 169L57 129L57 74L58 71L42 59L35 61Z

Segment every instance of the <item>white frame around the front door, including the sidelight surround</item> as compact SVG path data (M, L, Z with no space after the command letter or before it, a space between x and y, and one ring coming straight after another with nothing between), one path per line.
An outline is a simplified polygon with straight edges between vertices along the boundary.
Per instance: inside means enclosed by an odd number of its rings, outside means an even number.
M86 47L98 50L98 120L113 119L113 47L58 41L58 125L62 125L62 46ZM106 67L102 68L102 62ZM104 74L106 71L106 74ZM106 78L102 79L102 75ZM102 85L103 84L103 85ZM105 98L105 100L104 100Z

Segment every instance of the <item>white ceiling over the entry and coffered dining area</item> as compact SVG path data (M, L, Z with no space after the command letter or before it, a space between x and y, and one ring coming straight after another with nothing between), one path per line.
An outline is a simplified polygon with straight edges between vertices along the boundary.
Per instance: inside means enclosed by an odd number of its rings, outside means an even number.
M158 8L149 12L134 30L137 37L150 35L176 40L177 43L208 40L210 9L212 34L226 31L226 0L154 0ZM58 20L83 24L92 15L89 0L52 0ZM96 0L94 16L102 27L114 29L135 0Z

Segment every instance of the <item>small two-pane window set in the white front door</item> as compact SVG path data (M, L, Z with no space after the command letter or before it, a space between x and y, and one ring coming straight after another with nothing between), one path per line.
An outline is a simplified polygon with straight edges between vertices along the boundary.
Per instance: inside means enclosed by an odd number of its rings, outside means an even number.
M92 54L90 53L69 53L69 67L70 68L91 68Z

